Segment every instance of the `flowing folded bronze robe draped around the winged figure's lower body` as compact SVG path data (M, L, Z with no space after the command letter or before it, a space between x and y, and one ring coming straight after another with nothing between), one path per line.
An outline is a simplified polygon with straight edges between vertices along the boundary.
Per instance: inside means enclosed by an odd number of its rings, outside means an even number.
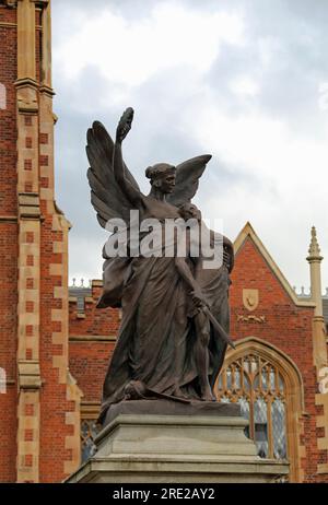
M187 258L190 268L192 263ZM225 266L199 279L212 314L229 332L229 272ZM99 421L112 403L121 401L130 380L157 394L200 399L195 362L197 334L188 317L190 290L174 257L108 258L98 307L122 308L122 319L103 388ZM226 345L211 326L209 379L214 385Z

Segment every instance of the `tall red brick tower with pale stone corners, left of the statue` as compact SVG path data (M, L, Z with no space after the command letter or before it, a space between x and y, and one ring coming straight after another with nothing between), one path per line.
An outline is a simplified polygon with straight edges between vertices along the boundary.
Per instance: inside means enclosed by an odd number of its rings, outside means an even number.
M54 199L50 42L50 2L0 2L4 482L60 481L80 458L80 390L68 368L69 223Z

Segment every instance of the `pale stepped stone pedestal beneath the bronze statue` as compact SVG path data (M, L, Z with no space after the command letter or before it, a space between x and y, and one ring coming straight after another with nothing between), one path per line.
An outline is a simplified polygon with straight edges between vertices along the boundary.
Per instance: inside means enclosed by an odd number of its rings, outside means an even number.
M197 415L165 415L156 413L153 401L147 402L153 413L131 413L139 410L133 403L116 406L95 441L96 454L67 482L274 482L289 472L288 463L257 456L238 406L198 402ZM150 406L141 403L147 411ZM173 408L185 411L185 406Z

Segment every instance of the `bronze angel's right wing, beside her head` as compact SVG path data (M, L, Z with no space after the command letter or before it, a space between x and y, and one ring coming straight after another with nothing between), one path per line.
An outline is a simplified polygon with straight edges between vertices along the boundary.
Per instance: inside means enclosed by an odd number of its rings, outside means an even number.
M195 197L199 185L199 178L211 157L211 154L203 154L187 160L176 167L175 188L166 198L169 203L179 207Z

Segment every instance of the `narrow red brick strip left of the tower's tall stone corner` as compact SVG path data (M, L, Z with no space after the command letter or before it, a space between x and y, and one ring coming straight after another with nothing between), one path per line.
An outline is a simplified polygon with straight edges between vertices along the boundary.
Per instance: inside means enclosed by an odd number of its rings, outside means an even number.
M3 24L2 24L3 23ZM0 108L0 367L7 373L7 394L0 394L0 481L16 475L16 28L15 10L0 5L0 84L7 108ZM4 89L3 89L4 86ZM2 103L2 105L5 105Z

